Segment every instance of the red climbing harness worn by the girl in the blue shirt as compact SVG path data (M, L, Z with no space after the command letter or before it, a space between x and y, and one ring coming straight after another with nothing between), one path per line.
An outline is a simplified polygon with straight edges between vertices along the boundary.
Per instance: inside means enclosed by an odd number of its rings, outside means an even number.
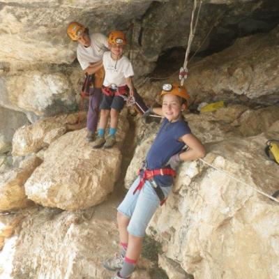
M158 195L158 198L160 199L160 206L162 206L167 198L165 198L165 195L163 193L163 190L156 184L156 182L153 180L154 176L156 175L170 175L172 177L176 176L176 172L174 169L171 169L169 167L164 167L162 169L146 169L146 162L144 161L144 165L141 169L137 172L138 175L140 175L140 183L135 188L133 195L137 192L137 190L142 190L144 183L146 180L148 180L152 186L152 188L155 190L156 194Z

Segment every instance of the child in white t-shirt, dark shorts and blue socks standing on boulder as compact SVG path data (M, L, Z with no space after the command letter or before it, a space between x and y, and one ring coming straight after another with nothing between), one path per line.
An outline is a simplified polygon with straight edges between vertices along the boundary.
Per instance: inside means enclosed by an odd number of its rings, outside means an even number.
M134 95L132 77L133 66L123 50L126 38L121 31L112 31L108 38L110 52L103 54L103 66L105 68L105 80L103 82L103 100L100 104L100 123L98 137L93 143L93 148L111 148L115 143L116 128L119 112L123 109L125 100L121 96ZM105 128L110 116L110 133L105 139Z

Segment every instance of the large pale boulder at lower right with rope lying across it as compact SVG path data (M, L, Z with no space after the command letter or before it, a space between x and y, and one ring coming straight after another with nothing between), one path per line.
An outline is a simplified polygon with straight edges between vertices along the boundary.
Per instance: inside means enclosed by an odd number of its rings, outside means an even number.
M264 135L228 137L208 146L204 160L271 195L279 172L264 156L265 142ZM263 278L259 270L276 278L279 209L252 188L201 162L183 163L148 232L195 278Z

